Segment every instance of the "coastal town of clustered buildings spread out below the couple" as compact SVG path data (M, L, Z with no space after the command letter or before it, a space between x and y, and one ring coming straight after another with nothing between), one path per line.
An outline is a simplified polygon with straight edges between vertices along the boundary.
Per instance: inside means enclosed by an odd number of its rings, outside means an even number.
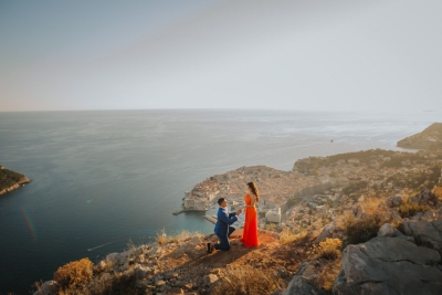
M400 155L400 152L398 152ZM215 175L186 192L185 210L206 211L221 197L232 204L232 210L243 208L246 183L254 181L260 190L257 204L260 226L277 223L293 230L322 228L323 224L350 209L358 201L382 188L391 193L403 193L406 188L388 182L390 176L424 171L429 164L440 161L438 152L423 154L422 160L406 160L401 167L385 167L391 157L379 155L367 159L339 159L334 165L314 166L307 158L298 160L293 170L282 171L265 166L241 167ZM366 181L367 187L357 198L346 196L343 189L352 182Z

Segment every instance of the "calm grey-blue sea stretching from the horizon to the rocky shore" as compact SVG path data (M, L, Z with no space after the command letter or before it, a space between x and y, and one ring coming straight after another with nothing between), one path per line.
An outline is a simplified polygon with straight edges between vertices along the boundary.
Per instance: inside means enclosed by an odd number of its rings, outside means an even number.
M0 197L0 292L29 294L67 262L97 262L161 229L211 232L204 213L172 215L185 191L209 176L397 149L399 139L441 118L423 112L0 113L0 165L33 179Z

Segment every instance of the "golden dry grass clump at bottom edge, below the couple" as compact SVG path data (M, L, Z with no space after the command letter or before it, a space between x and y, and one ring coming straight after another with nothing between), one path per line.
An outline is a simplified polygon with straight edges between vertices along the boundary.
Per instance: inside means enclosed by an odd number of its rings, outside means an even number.
M270 294L278 287L278 280L271 274L264 273L252 266L244 265L238 268L230 268L213 285L211 295L261 295Z

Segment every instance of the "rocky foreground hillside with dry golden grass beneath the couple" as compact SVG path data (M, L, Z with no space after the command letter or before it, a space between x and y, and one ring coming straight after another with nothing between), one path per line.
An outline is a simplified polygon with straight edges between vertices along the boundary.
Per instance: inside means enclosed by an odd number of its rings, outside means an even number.
M239 229L230 252L213 253L213 234L158 235L66 264L34 294L442 294L439 186L359 202L318 232L259 234L246 249Z

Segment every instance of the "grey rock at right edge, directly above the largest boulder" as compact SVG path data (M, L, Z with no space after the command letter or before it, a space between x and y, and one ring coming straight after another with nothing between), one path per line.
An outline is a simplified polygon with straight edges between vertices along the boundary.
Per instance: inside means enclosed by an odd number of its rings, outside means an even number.
M442 220L413 221L404 219L403 231L422 244L442 251Z

